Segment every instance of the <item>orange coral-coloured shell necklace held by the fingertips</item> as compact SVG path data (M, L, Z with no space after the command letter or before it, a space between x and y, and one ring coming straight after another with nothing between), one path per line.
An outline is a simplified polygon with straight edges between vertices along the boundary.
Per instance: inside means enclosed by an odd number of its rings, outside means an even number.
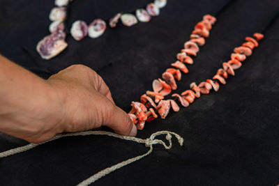
M155 79L152 87L153 91L146 91L141 96L140 102L132 102L132 109L129 112L129 116L133 123L137 125L138 130L144 128L145 121L153 121L158 118L165 119L169 114L170 108L173 111L179 111L179 105L176 104L175 100L178 99L183 107L188 107L189 104L193 103L195 98L199 98L201 94L209 94L213 89L218 91L220 84L226 84L225 79L229 75L234 76L234 70L241 67L247 56L252 54L252 49L258 47L258 41L264 38L262 33L254 33L254 38L246 37L240 47L234 48L234 53L231 54L231 59L223 63L223 68L218 69L216 75L212 79L206 79L205 82L201 82L197 85L195 82L190 84L190 89L183 91L181 95L174 93L172 97L174 100L163 100L166 95L176 90L176 80L181 80L181 71L188 73L188 68L184 63L193 64L193 59L190 56L197 56L199 52L199 46L204 45L205 39L209 37L209 31L212 25L216 22L216 18L211 15L204 15L202 22L195 25L195 30L190 36L190 40L185 42L184 49L181 49L181 53L176 55L178 61L172 63L174 68L168 68L162 75L162 79ZM158 103L158 104L156 104ZM155 110L154 110L155 109Z

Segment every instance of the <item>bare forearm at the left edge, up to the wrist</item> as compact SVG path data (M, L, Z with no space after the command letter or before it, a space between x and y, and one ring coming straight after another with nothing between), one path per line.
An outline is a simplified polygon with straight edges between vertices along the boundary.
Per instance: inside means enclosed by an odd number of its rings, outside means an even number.
M59 122L57 95L44 79L0 56L0 132L28 139L47 130L45 121ZM46 118L49 117L49 118Z

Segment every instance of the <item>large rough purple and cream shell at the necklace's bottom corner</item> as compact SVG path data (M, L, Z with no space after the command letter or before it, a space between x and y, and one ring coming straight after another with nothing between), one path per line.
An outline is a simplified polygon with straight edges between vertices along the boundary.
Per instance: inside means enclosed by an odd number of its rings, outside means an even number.
M43 59L52 59L52 57L58 55L68 46L65 38L66 33L56 31L40 40L36 49Z

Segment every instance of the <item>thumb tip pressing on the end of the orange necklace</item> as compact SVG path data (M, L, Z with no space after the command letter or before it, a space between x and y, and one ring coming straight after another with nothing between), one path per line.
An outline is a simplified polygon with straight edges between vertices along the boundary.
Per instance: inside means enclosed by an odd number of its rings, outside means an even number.
M135 137L137 135L137 127L128 114L114 104L112 104L112 107L112 114L108 114L104 119L103 125L110 127L117 134Z

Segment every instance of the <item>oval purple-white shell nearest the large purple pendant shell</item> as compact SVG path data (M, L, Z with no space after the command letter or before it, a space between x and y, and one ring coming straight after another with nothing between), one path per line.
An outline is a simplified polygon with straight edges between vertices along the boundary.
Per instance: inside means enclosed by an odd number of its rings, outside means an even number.
M70 34L73 36L75 40L82 40L87 36L88 27L86 22L83 21L75 21L70 29Z

